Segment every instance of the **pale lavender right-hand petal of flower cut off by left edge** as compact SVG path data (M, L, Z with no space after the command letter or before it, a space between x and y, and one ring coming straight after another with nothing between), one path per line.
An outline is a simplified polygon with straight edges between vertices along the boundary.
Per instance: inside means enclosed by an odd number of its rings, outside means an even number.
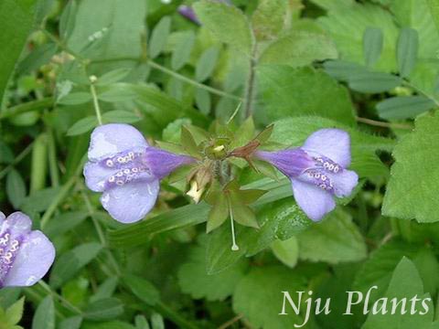
M5 286L31 286L46 275L55 260L55 248L41 231L32 231L22 242Z

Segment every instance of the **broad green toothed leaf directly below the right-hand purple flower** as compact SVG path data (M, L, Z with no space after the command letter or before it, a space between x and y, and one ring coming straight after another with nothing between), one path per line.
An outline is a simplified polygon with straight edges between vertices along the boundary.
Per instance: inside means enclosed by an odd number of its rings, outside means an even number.
M302 260L326 261L331 264L363 260L366 243L352 218L337 209L320 223L297 235Z

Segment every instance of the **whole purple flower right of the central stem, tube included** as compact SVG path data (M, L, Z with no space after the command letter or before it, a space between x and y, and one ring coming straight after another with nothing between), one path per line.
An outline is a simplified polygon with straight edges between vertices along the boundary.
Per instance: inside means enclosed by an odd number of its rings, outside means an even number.
M359 182L359 176L346 169L350 138L339 129L319 130L299 148L255 155L291 179L295 201L315 221L336 207L334 196L349 196Z

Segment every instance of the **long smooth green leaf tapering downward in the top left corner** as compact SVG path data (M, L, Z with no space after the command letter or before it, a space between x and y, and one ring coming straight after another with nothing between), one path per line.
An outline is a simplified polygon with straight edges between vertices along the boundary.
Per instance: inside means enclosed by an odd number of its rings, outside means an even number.
M5 88L25 47L34 19L35 0L2 0L0 3L0 109Z

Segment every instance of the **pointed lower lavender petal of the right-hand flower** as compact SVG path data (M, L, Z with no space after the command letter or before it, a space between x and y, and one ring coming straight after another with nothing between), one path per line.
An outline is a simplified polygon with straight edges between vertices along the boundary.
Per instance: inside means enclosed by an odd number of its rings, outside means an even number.
M336 207L333 196L317 186L292 179L294 199L306 216L319 221Z

